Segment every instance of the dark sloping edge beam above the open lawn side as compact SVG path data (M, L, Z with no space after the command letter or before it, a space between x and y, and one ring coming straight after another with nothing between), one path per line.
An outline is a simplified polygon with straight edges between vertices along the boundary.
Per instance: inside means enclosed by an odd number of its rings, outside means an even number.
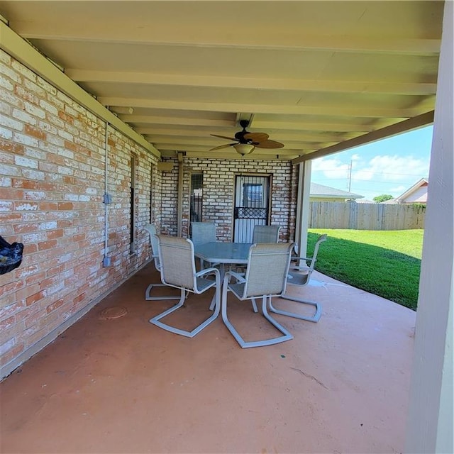
M304 155L297 157L292 161L292 164L299 164L306 160L313 160L318 157L323 157L326 155L331 155L332 153L338 153L340 151L349 150L350 148L355 148L360 145L365 145L365 143L376 142L377 140L382 140L383 138L391 137L392 135L397 135L404 133L406 131L411 131L412 129L420 128L421 126L426 126L430 123L433 123L433 111L426 112L426 114L421 114L415 116L414 118L409 118L408 120L395 123L391 126L386 126L385 128L377 129L370 133L360 135L357 138L350 140L345 140L344 142L337 143L336 145L331 145L326 148L321 148L311 155Z

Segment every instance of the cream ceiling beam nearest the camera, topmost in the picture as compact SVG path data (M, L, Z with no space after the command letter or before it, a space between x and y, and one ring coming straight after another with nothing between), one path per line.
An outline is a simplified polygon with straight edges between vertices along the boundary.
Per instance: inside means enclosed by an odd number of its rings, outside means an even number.
M24 38L33 40L86 41L94 43L172 45L197 48L235 48L250 50L317 50L326 52L367 52L405 55L437 55L441 39L431 38L370 38L367 36L311 35L295 36L287 33L270 33L269 28L254 28L254 33L232 33L231 26L184 28L181 23L175 27L162 28L158 23L138 28L125 21L115 26L111 21L96 22L96 28L88 25L81 28L79 23L42 23L40 21L9 21L11 28Z

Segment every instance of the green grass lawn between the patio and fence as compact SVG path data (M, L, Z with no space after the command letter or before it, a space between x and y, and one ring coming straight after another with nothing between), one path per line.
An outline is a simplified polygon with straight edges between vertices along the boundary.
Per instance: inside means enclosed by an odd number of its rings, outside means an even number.
M416 310L423 230L364 231L311 228L308 255L321 243L316 270Z

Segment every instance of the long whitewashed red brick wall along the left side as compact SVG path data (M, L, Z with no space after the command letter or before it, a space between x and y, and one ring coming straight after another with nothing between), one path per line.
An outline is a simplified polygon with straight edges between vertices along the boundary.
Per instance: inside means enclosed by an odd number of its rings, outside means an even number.
M157 158L107 128L108 250L103 267L106 125L0 51L0 235L25 245L0 275L0 366L81 314L150 258L143 226L160 224ZM135 254L131 255L131 157ZM153 206L150 199L153 189ZM77 316L76 316L77 317ZM50 338L49 341L52 339Z

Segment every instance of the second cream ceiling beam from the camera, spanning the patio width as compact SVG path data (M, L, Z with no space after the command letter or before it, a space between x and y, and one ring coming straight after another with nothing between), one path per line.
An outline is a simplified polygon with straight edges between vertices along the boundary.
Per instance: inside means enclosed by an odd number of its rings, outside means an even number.
M341 92L426 95L436 92L436 83L358 80L261 79L255 77L219 77L191 74L155 74L147 72L109 72L65 69L76 82L116 82L121 84L172 85L178 87L214 87L228 89L267 89L298 92Z

